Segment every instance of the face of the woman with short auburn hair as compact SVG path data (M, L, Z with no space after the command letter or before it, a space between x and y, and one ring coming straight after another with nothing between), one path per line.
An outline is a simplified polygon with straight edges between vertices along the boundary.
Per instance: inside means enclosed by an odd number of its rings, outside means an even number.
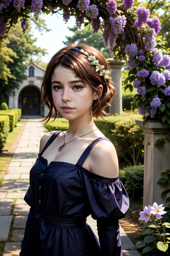
M51 77L51 86L55 107L64 118L74 120L92 114L93 100L98 96L93 93L90 85L83 84L81 79L76 77L74 70L56 67ZM72 109L64 108L65 106Z

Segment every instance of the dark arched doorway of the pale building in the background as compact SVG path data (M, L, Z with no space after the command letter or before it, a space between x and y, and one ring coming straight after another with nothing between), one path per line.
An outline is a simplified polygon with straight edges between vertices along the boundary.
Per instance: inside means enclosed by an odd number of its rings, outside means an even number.
M27 86L22 91L22 115L39 115L41 92L35 86Z

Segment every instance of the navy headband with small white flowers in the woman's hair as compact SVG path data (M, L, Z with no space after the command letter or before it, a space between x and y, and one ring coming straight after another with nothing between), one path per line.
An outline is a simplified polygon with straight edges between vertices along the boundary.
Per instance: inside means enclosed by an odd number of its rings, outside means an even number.
M78 48L71 48L70 50L76 50L80 51L81 53L84 53L86 56L89 56L87 59L90 60L92 65L96 66L96 72L100 71L100 76L104 76L105 79L110 79L111 77L111 71L105 70L104 65L100 65L99 60L96 59L95 55L89 55L89 53L83 49Z

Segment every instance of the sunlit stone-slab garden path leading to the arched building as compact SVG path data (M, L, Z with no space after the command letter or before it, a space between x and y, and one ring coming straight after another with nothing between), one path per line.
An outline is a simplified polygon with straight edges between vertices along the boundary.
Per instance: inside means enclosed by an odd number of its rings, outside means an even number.
M29 187L29 171L36 162L39 141L44 135L44 128L38 119L21 119L21 121L27 123L8 167L8 174L4 176L0 187L0 241L10 241L5 243L3 256L19 256L30 208L23 198ZM98 238L96 221L89 216L87 223ZM10 228L13 228L12 234L9 232ZM133 250L134 244L121 225L120 234L123 256L140 256L136 250Z

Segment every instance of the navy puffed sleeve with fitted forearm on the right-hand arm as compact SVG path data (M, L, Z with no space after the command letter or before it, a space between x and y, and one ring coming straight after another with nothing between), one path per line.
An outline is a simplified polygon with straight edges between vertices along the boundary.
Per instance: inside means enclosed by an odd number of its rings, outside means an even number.
M97 220L100 250L103 256L123 256L119 219L129 208L129 197L122 182L92 172L84 175L91 216Z

